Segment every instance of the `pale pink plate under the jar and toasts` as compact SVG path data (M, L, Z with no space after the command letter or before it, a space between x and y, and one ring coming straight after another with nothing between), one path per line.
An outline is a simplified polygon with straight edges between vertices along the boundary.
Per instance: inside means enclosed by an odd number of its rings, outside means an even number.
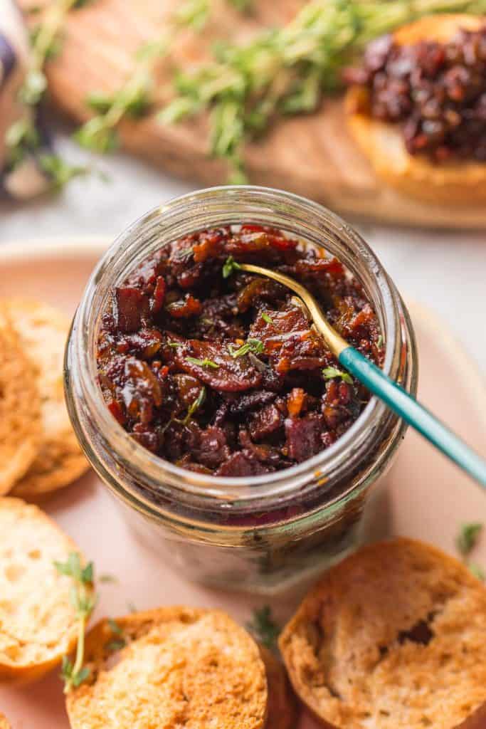
M0 247L0 295L37 297L73 313L87 276L106 243L59 241L36 246L16 243ZM419 396L463 436L485 453L486 392L473 363L430 312L410 305L420 353ZM367 539L387 534L418 537L455 552L461 523L486 521L486 497L474 483L409 432L396 465L377 490L365 524ZM44 504L47 511L95 561L97 574L118 582L101 584L95 617L123 615L128 603L138 609L163 604L221 607L245 623L252 608L267 600L215 592L189 584L168 565L138 545L125 526L114 500L93 473ZM474 559L486 567L486 539ZM299 595L275 599L275 617L285 621ZM271 602L271 601L270 601ZM30 687L2 688L0 710L13 729L68 729L58 671ZM302 714L299 729L315 722Z

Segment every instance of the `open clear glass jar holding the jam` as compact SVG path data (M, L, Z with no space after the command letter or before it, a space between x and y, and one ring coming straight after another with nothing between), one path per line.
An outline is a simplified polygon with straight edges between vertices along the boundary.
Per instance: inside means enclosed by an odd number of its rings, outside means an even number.
M272 594L356 546L370 489L391 464L403 421L372 397L348 432L307 461L244 480L214 477L181 469L136 443L106 408L96 373L98 327L111 289L170 241L242 222L281 228L340 259L374 305L385 338L385 372L415 394L418 367L407 309L367 244L316 203L245 186L184 195L117 238L95 268L74 319L66 397L87 458L162 564L206 585Z

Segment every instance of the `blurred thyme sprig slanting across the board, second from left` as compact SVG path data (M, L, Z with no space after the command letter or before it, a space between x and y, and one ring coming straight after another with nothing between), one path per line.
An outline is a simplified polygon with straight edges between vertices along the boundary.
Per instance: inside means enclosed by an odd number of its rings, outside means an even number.
M247 0L229 0L246 9ZM179 31L201 31L211 15L212 0L185 0L173 13L170 28L159 38L143 44L136 52L133 71L112 94L91 93L86 99L94 117L85 122L74 139L95 152L111 152L118 146L117 127L125 118L138 119L149 111L154 91L154 67L171 51Z

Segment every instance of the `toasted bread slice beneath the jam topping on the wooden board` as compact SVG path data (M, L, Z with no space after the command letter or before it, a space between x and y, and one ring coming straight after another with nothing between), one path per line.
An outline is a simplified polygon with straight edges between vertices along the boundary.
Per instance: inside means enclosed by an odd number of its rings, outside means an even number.
M485 19L474 15L424 17L396 31L402 45L422 40L445 43L460 28L477 30ZM409 155L401 130L366 113L367 91L351 87L345 99L348 127L377 174L389 185L431 203L486 203L486 163L451 161L436 164L422 155Z

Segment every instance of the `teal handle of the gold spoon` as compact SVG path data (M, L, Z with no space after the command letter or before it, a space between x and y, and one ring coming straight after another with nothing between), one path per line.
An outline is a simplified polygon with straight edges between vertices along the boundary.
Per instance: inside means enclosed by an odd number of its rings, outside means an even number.
M338 359L348 372L383 400L388 408L486 488L486 461L452 430L355 348L346 347Z

